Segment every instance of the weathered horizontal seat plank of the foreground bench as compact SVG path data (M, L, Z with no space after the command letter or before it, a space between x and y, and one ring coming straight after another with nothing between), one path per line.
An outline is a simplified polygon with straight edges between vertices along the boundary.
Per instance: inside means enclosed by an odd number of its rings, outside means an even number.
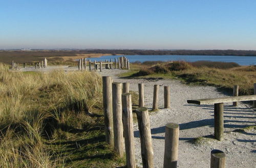
M256 95L187 100L187 103L200 105L200 104L215 104L215 103L227 103L227 102L233 102L233 101L252 101L252 100L256 100Z

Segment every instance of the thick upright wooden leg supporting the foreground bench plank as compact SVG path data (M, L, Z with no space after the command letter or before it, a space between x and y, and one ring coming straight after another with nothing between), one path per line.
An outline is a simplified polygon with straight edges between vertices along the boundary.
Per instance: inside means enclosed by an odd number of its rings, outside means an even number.
M223 120L223 103L214 104L214 135L219 141L223 141L224 120Z

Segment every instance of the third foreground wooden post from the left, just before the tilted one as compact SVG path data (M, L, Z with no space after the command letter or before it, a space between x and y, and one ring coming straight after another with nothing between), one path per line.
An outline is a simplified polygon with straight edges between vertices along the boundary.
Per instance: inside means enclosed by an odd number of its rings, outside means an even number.
M136 167L134 132L133 132L133 109L131 93L122 94L122 119L125 144L126 167Z

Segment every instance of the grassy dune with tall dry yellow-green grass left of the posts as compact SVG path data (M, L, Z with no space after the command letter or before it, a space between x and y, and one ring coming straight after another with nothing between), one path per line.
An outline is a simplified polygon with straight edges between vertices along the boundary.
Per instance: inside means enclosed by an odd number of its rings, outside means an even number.
M96 73L10 72L0 64L0 165L114 167Z

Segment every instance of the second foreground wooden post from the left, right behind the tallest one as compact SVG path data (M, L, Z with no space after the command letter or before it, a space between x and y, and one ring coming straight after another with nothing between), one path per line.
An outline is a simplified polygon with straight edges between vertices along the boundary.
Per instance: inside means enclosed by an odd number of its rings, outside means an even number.
M113 91L113 128L114 150L119 157L123 156L123 123L122 123L122 83L112 83Z

